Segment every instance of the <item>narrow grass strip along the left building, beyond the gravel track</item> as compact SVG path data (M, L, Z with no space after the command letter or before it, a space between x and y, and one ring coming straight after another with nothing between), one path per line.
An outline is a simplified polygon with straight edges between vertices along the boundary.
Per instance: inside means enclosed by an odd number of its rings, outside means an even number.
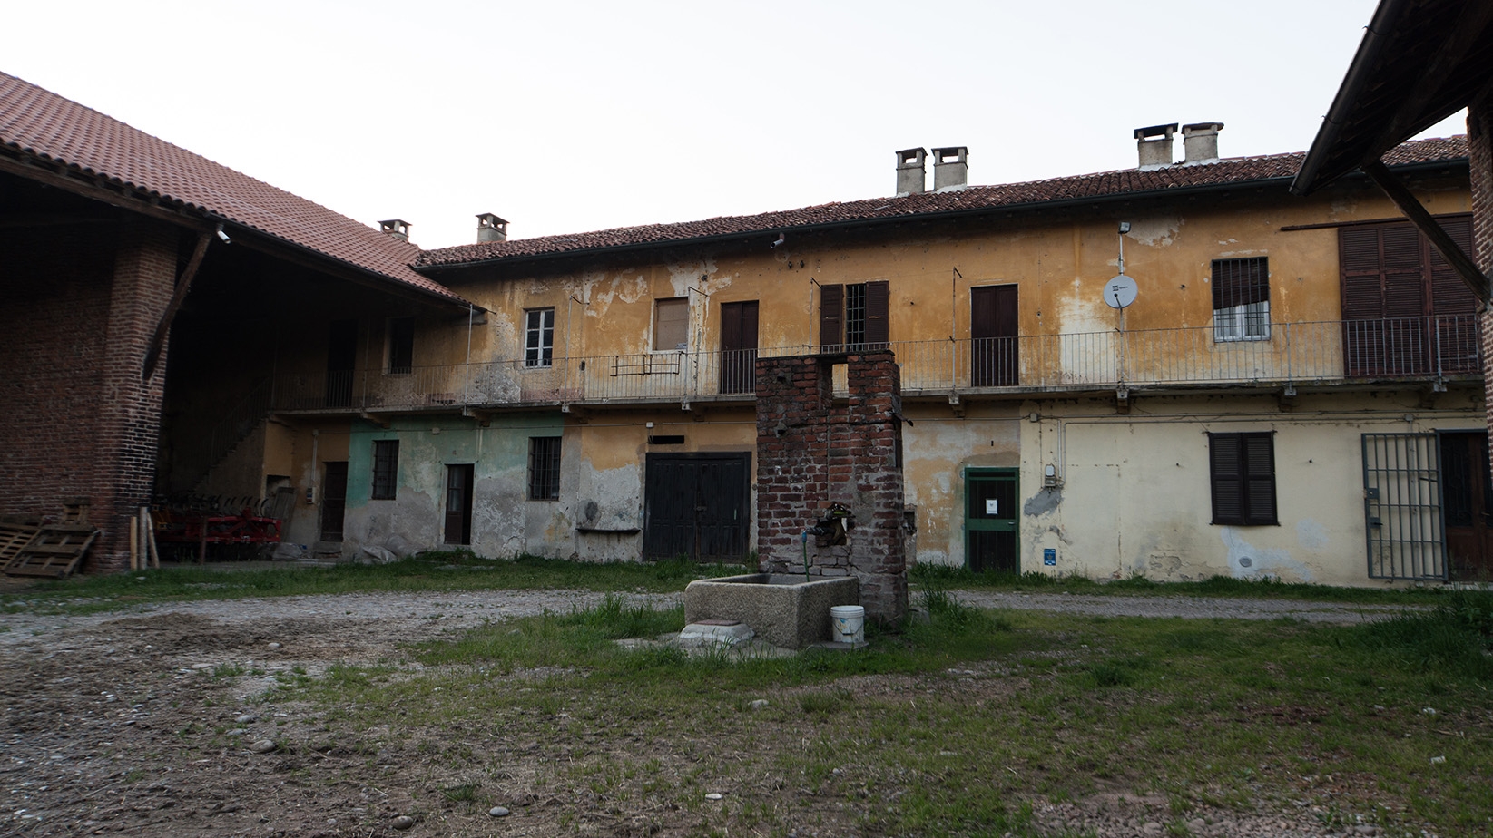
M370 590L578 589L617 592L682 590L694 579L742 573L741 565L687 559L585 564L537 556L484 559L469 550L439 550L387 565L278 567L227 571L173 567L109 576L45 580L0 595L0 611L85 614L142 602L300 596Z

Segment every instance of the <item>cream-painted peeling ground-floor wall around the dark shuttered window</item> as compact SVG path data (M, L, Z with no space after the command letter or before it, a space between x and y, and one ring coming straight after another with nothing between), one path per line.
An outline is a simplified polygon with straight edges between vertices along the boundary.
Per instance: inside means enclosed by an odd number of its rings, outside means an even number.
M1139 404L1144 416L1099 400L1036 404L1041 420L1021 423L1023 571L1369 585L1360 434L1477 431L1483 416L1472 389L1435 409L1403 392L1315 395L1290 413L1274 397ZM1275 432L1278 526L1211 523L1209 431ZM1060 488L1042 488L1048 464ZM1057 550L1056 568L1044 549Z

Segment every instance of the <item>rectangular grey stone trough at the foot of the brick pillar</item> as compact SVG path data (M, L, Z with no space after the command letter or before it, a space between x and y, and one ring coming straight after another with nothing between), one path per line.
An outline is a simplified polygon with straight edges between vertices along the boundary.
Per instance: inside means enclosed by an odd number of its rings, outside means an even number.
M741 620L757 637L782 649L829 641L830 607L860 605L853 576L815 579L751 573L697 579L684 589L684 622Z

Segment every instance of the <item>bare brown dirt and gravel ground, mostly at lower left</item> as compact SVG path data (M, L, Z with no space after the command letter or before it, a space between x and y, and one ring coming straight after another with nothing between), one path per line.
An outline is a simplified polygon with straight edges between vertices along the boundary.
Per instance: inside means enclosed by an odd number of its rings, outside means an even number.
M514 740L503 729L446 734L461 741L431 741L440 734L428 731L397 738L387 729L340 729L317 708L261 698L276 674L317 675L339 661L418 667L405 658L402 644L596 598L494 590L188 602L85 617L0 616L0 834L687 837L726 834L703 826L708 807L739 805L751 795L761 807L797 798L793 817L805 826L787 834L829 838L863 835L858 825L866 807L891 802L866 795L814 798L793 778L742 777L736 766L751 760L741 743L630 741L626 735L609 747L652 753L670 771L717 783L726 799L681 805L639 793L620 801L584 786L542 781L570 753L566 741ZM1076 605L1051 599L1047 607L1053 610ZM1020 605L1044 602L1027 598ZM1115 613L1111 604L1094 607ZM1315 613L1332 611L1324 608ZM1282 610L1311 611L1296 602L1268 616ZM927 681L878 677L847 686L912 696L956 689L970 701L999 701L1020 686L1018 678L990 674L970 670ZM255 753L252 746L264 740L279 744ZM490 752L487 777L497 781L476 801L439 795L460 775L449 769L449 759L431 754L458 747ZM493 772L494 762L502 771ZM509 814L490 813L494 804ZM1306 808L1191 816L1188 831L1199 837L1329 834ZM1165 799L1126 790L1038 807L1036 817L1051 834L1100 837L1162 835L1175 820ZM1375 834L1372 828L1338 831L1345 832Z

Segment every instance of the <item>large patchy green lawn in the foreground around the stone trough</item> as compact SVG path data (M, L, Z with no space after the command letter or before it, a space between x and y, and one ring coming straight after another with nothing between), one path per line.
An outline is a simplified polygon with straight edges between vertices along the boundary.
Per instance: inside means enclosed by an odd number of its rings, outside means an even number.
M382 747L420 741L463 783L517 762L546 798L649 801L700 834L1065 834L1047 802L1115 790L1166 801L1150 817L1172 825L1265 805L1386 835L1487 829L1487 595L1362 626L996 613L938 587L920 604L927 622L867 626L869 649L760 659L626 650L682 614L617 596L290 698L334 729L388 725Z

